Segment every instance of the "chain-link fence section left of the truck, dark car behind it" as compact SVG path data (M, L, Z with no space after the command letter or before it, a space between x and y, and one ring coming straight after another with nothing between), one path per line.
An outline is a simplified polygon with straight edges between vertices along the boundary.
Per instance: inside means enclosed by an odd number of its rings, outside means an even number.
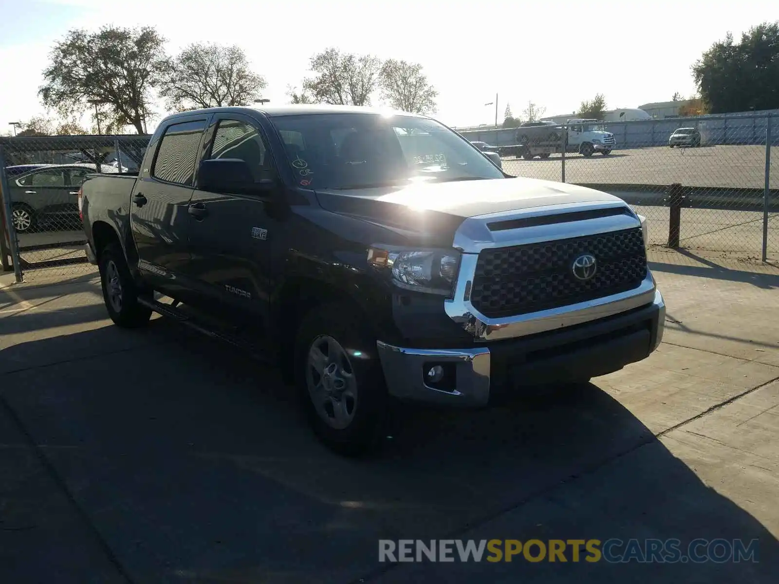
M149 136L24 136L0 139L4 215L20 268L90 269L78 192L87 174L137 172ZM7 222L5 223L7 225ZM10 249L8 250L10 252Z

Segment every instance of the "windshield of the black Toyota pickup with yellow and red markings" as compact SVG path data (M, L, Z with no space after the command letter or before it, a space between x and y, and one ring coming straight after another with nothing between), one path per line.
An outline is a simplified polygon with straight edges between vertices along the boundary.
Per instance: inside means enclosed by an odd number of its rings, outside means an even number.
M302 186L347 189L505 178L467 141L427 118L305 114L271 121Z

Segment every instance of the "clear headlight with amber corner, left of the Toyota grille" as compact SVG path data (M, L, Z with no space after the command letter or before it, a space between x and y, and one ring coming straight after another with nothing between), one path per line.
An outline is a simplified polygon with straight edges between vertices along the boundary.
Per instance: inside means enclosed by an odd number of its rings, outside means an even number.
M368 263L386 269L404 290L451 296L460 268L460 253L443 249L369 248Z

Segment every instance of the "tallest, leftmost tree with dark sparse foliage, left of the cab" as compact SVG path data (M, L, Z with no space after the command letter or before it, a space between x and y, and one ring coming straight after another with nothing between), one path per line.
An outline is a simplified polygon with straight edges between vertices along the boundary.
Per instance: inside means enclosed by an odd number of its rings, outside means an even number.
M132 125L145 132L151 114L150 90L164 72L164 39L149 26L104 26L97 33L71 30L55 44L39 94L61 115L101 104L109 125Z

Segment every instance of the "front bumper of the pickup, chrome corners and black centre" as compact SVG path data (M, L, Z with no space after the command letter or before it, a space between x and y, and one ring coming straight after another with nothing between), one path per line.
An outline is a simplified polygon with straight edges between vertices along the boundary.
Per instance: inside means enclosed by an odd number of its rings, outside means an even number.
M576 382L607 375L648 357L660 344L665 303L608 318L465 349L410 349L379 341L387 389L399 399L446 406L486 406L523 386ZM425 372L446 368L443 385L429 385ZM451 374L451 375L449 375Z

